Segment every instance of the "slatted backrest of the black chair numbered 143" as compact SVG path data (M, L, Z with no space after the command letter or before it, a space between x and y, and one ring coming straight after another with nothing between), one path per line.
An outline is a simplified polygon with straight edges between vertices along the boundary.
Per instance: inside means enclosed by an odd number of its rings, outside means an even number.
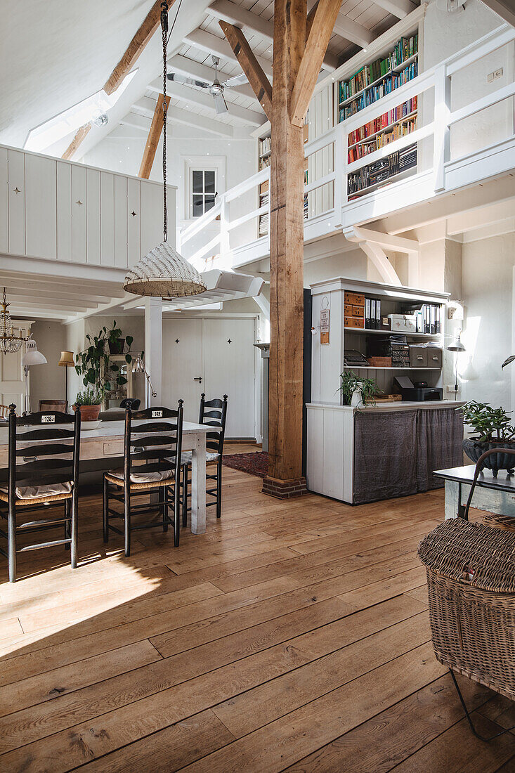
M182 451L182 403L177 410L152 406L125 413L124 485L128 488L131 472L173 472L180 480ZM171 421L162 421L170 419ZM143 421L143 424L135 424Z

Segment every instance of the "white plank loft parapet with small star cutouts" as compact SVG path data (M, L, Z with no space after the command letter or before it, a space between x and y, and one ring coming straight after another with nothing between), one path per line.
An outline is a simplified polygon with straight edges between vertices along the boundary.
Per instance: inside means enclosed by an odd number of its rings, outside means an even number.
M0 254L126 268L160 241L159 183L0 146Z

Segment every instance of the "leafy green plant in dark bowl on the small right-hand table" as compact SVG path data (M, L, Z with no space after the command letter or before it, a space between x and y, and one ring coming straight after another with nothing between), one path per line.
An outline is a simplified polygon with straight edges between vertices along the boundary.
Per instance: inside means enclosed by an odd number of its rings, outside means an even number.
M463 451L473 462L491 448L513 448L515 427L503 407L493 408L488 403L471 400L461 410L463 423L474 433L463 441ZM499 470L513 472L513 456L509 454L492 454L483 464L492 470L494 477Z

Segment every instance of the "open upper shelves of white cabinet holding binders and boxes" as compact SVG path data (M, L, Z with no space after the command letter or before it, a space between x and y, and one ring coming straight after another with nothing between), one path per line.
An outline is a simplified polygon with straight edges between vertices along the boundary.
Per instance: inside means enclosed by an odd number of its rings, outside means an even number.
M313 402L340 402L345 369L375 378L385 394L394 393L397 373L442 386L447 295L343 278L312 285L312 294L314 329L329 303L329 344L313 337Z

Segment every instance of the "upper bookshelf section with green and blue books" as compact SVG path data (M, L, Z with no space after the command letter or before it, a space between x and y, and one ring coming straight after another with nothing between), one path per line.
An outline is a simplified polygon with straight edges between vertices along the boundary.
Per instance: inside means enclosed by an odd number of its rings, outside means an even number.
M364 64L337 88L338 121L341 123L374 104L418 75L418 32L397 40L394 47Z

